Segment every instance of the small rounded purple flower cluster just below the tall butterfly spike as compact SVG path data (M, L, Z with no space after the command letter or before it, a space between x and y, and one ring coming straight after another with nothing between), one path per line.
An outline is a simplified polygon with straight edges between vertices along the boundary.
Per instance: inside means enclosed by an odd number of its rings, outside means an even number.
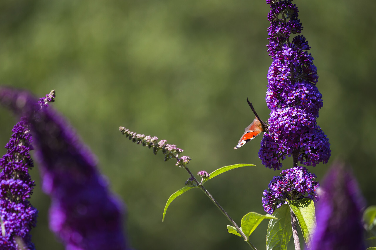
M309 173L305 167L293 167L282 170L281 175L274 176L268 190L262 193L262 206L265 212L273 214L276 208L287 204L287 200L310 198L317 200L318 182L315 174Z

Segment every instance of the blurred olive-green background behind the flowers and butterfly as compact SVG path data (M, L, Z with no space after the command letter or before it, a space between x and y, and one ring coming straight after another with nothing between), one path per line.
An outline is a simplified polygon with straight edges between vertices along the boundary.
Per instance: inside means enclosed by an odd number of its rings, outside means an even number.
M318 124L329 137L329 164L309 167L320 181L335 160L350 164L368 205L376 204L376 2L294 1L302 34L312 47L324 107ZM249 249L227 233L229 222L199 190L178 197L162 223L168 197L188 175L163 155L131 143L118 131L158 136L185 150L193 173L235 163L206 188L240 223L264 213L262 191L274 175L258 158L261 137L233 150L253 120L262 119L266 74L264 0L3 0L0 2L0 83L52 104L97 155L111 188L127 204L135 249ZM16 120L0 109L0 145ZM0 153L5 154L1 148ZM284 168L291 167L287 159ZM49 197L40 190L38 164L32 230L37 249L63 249L48 229ZM265 249L267 221L250 237Z

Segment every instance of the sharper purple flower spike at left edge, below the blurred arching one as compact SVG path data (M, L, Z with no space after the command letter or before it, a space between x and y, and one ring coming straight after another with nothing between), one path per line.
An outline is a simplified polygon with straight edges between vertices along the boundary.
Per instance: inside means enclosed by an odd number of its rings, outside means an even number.
M38 211L30 202L34 181L29 169L33 167L30 157L30 130L24 119L18 122L5 148L8 149L0 159L0 249L17 250L17 237L25 247L35 249L31 242L30 230L36 225Z

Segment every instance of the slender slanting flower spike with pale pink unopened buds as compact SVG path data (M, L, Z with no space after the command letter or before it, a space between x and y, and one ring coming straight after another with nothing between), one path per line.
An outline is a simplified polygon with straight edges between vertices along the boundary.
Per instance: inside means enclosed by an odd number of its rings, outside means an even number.
M183 152L183 149L177 148L176 145L167 144L167 140L159 140L158 137L145 136L144 134L137 134L130 130L120 127L119 131L128 137L129 140L136 144L147 146L149 149L153 148L153 153L156 155L159 150L165 155L165 161L175 158L177 160L176 166L185 167L186 164L192 160L189 156L182 156L179 158L179 154Z

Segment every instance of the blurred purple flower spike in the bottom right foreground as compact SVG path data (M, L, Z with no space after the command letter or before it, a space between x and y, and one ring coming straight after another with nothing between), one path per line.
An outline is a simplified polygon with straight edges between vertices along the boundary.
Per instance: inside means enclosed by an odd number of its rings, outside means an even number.
M362 209L365 202L351 172L333 166L320 189L317 228L311 250L364 250Z

